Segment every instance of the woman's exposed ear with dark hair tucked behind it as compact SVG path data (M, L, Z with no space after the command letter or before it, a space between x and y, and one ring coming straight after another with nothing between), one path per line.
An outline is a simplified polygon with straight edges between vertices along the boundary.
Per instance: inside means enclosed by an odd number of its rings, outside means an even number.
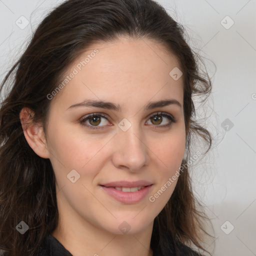
M19 113L24 136L29 146L37 155L42 158L49 158L43 127L40 123L32 121L33 114L33 111L27 107L23 107Z

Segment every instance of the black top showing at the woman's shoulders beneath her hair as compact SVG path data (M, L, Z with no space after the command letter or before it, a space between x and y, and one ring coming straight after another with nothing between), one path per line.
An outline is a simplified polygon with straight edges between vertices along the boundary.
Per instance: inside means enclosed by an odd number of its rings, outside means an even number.
M153 247L153 256L199 256L198 253L184 244L179 244L178 251L174 250L172 243L169 242L165 248L158 244ZM54 236L47 235L40 246L38 256L73 256Z

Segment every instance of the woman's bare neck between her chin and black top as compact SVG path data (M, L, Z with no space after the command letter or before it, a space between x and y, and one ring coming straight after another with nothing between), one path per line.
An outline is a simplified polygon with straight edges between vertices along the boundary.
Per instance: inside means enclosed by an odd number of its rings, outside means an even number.
M57 228L51 235L73 256L152 256L152 227L153 221L136 233L111 233L75 215L75 212L61 214L60 210Z

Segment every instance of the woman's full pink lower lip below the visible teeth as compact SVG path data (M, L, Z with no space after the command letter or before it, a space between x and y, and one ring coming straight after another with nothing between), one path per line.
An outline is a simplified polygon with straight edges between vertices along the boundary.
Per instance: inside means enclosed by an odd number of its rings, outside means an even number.
M144 188L135 191L135 192L123 192L120 190L115 189L114 187L106 187L101 186L102 189L116 199L119 202L123 203L136 203L143 199L149 192L152 185L145 186Z

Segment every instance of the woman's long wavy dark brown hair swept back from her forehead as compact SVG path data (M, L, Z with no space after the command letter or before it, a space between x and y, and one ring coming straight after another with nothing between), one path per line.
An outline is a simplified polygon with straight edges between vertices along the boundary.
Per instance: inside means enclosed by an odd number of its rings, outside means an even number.
M39 157L28 145L19 112L28 107L33 121L46 132L51 93L72 61L93 42L119 36L150 38L166 46L179 60L184 80L186 158L176 187L153 225L165 246L166 231L175 245L182 242L202 247L203 211L192 193L188 173L191 136L211 146L211 134L195 118L192 95L206 98L210 79L198 67L200 60L184 39L182 25L152 0L67 0L55 7L39 24L21 57L4 77L0 92L9 85L0 107L0 248L5 255L35 255L43 238L57 225L55 176L49 159ZM29 229L20 234L16 225ZM164 245L165 244L165 245Z

